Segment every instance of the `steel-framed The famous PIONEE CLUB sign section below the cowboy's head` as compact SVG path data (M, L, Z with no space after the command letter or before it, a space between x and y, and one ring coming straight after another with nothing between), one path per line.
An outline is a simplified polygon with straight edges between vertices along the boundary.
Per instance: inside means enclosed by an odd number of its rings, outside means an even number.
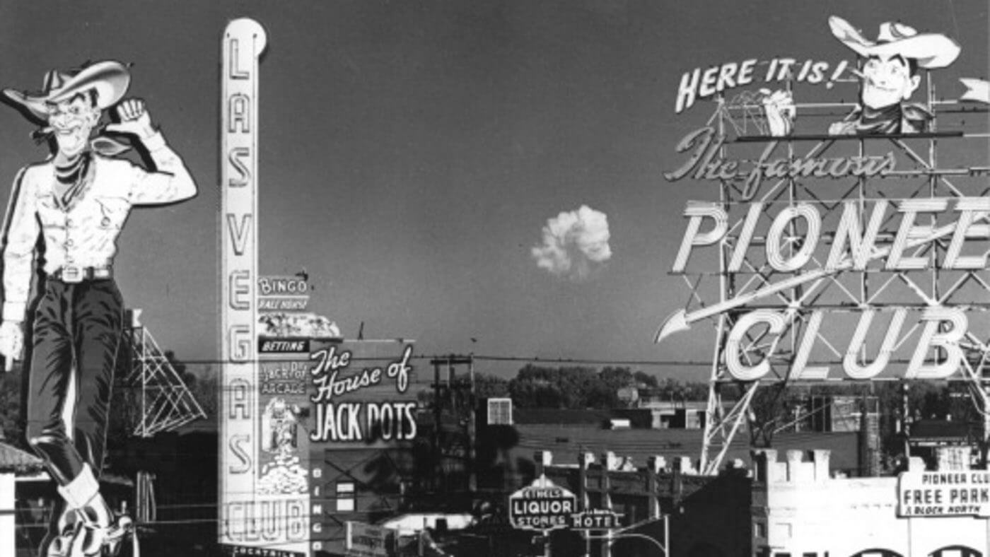
M743 93L717 98L677 145L665 177L719 192L684 209L671 270L688 299L656 334L714 325L705 473L760 382L961 379L990 408L990 161L986 130L961 131L985 110L926 83L939 127L924 134L770 137L760 98ZM810 125L854 106L795 105ZM743 387L735 403L727 383Z

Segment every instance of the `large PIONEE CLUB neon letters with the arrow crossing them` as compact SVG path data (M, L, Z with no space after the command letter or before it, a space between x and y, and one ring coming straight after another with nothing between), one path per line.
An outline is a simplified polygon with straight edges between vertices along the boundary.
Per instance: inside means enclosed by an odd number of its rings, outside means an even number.
M867 215L865 211L860 210L858 203L853 201L843 203L839 226L834 232L828 259L823 265L811 269L806 267L812 262L812 255L822 241L822 217L818 209L809 203L798 203L784 208L773 218L769 229L765 232L762 249L767 265L771 269L795 274L692 313L678 312L668 319L658 333L658 337L663 338L689 327L694 322L743 308L773 294L800 286L814 285L816 281L843 271L925 270L933 264L932 259L927 256L910 255L908 251L937 241L948 241L948 248L942 259L936 262L941 269L974 270L986 266L986 252L976 255L963 255L962 252L967 240L990 238L990 226L980 222L982 218L990 215L990 199L878 200L871 205L872 210ZM727 267L730 272L741 269L746 252L752 249L751 242L756 233L757 221L766 209L763 203L749 204L746 217L743 219L742 232L736 238L735 248L730 252ZM946 212L954 216L954 223L941 227L920 224L920 217L925 214ZM696 248L719 243L729 230L726 211L715 204L689 204L684 211L684 217L688 219L688 226L674 260L675 273L684 272L688 259ZM900 224L893 241L887 245L880 245L877 242L880 225L890 218L899 218ZM785 244L785 231L788 231L795 221L802 221L804 224L801 227L804 231L803 236L799 238L801 248L785 254L781 247ZM862 222L866 223L865 227L860 226ZM703 232L703 229L707 230ZM798 271L803 272L798 273ZM958 307L942 307L936 301L930 302L929 307L920 312L919 325L922 333L905 372L907 379L944 379L962 365L964 353L959 341L968 326L965 311ZM735 378L743 381L759 379L770 369L768 359L763 359L755 365L743 363L740 357L743 337L757 325L766 327L771 335L779 335L784 331L788 314L795 311L796 309L793 308L759 309L743 314L736 321L729 332L725 351L727 369ZM877 310L868 308L861 311L858 325L842 358L842 370L850 379L871 379L887 367L891 353L905 331L910 312L906 308L894 309L885 330L874 325L878 313ZM829 367L808 365L815 337L825 317L826 312L822 310L811 312L804 338L798 344L799 348L791 367L792 379L829 378ZM879 335L883 341L876 358L872 362L863 364L860 363L858 356L867 335ZM775 343L770 350L771 354L774 348ZM939 348L943 357L939 362L932 363L927 361L927 354L934 348Z

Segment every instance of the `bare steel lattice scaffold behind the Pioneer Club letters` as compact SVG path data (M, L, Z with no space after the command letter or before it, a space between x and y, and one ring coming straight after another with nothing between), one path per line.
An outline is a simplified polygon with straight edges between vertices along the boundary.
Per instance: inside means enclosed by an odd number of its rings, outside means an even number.
M931 76L928 76L927 83L928 108L933 113L938 110L938 114L946 115L949 118L964 118L963 113L986 112L985 110L969 109L964 103L958 101L937 101ZM907 165L912 166L903 170L897 168L882 177L846 178L842 181L844 183L839 184L838 188L836 187L837 181L830 178L787 176L773 178L772 183L771 179L765 179L761 189L755 192L751 199L743 195L742 184L739 183L739 180L734 182L732 179L722 179L719 182L718 205L727 214L730 214L730 210L734 208L738 212L743 203L750 201L766 204L764 209L770 206L794 208L798 204L810 204L819 211L823 221L831 218L835 222L838 220L838 215L841 214L843 202L853 202L859 208L860 230L864 230L866 220L869 218L865 208L869 203L879 199L985 197L990 190L986 186L985 178L985 176L990 175L990 161L981 161L979 165L973 166L963 166L953 161L951 164L956 167L943 168L939 166L940 159L938 157L940 140L970 143L976 141L977 144L984 144L990 138L990 132L987 131L973 134L940 133L935 129L933 122L933 129L929 133L915 137L880 136L867 139L820 135L768 138L765 136L764 123L758 116L761 112L761 106L751 94L743 93L730 101L719 98L717 103L718 107L707 126L714 128L720 138L726 139L718 150L718 156L723 160L727 158L730 146L737 150L743 149L746 144L756 144L762 149L769 141L778 141L786 147L787 159L794 161L801 160L802 157L820 157L837 144L847 145L849 141L856 141L857 156L866 155L870 147L875 151L880 145L890 146L893 144L893 151L899 155L897 162L905 167ZM798 104L796 108L799 115L805 118L815 118L816 116L835 116L836 111L847 113L854 106L850 103L809 103ZM821 114L822 111L832 111L832 114L823 115ZM735 139L729 137L730 135ZM753 137L754 135L757 137ZM924 156L916 151L918 141L924 141L928 147L928 152ZM796 152L800 151L803 145L809 143L813 146L807 149L806 154ZM986 148L984 147L980 152L986 152ZM757 162L742 156L735 158L751 164ZM968 180L968 182L955 184L953 182L956 179ZM823 183L826 186L822 186ZM816 187L812 187L813 185ZM838 193L838 197L828 197L829 193L833 195ZM768 217L760 217L760 219L764 218ZM923 220L928 221L928 219L928 217L919 216L919 225L924 223ZM932 216L930 219L930 224L934 227L937 218ZM990 221L990 214L984 214L982 219ZM793 273L783 273L771 268L768 261L754 255L754 252L759 251L754 247L750 247L747 251L742 268L738 270L730 268L730 260L736 247L743 243L741 241L741 236L744 233L742 232L743 221L743 218L737 217L735 220L730 218L729 232L719 241L717 273L688 271L683 274L685 282L691 289L687 303L689 310L713 305L703 302L706 292L703 291L702 286L705 279L717 278L718 298L716 302L725 303L741 295L757 291L761 287L767 287L794 276ZM888 216L880 227L880 237L883 238L883 241L889 242L892 241L896 232L897 219ZM788 225L785 237L788 240L796 239L798 243L791 243L788 247L783 248L785 254L795 254L800 246L801 235L800 231L795 230L795 224L792 221ZM823 234L823 236L825 235ZM757 246L766 238L753 236L751 239L752 245ZM865 271L849 270L827 274L817 281L809 281L807 284L788 289L774 290L765 297L761 297L758 302L753 301L755 303L745 304L748 308L738 307L714 316L716 342L712 357L709 401L700 455L700 472L709 475L718 473L734 437L743 428L743 424L748 421L750 426L754 425L751 403L759 389L760 381L737 381L729 373L725 359L729 333L733 325L747 310L758 307L786 312L787 325L779 335L779 340L771 341L765 338L763 334L750 330L739 346L743 358L750 365L762 360L770 363L771 371L762 379L764 384L783 383L784 387L791 382L788 370L795 363L796 354L800 348L799 343L803 342L802 337L809 329L814 332L813 341L824 345L829 353L825 360L818 361L815 365L838 364L841 366L842 364L842 358L845 354L841 351L841 344L830 342L828 338L835 331L814 330L816 327L810 326L813 319L808 309L811 307L827 312L828 315L838 315L861 311L865 308L877 309L880 312L889 312L897 308L920 311L926 307L931 307L933 304L941 305L944 303L946 305L963 305L971 319L986 320L985 316L990 312L990 304L987 303L987 299L990 299L990 282L981 277L977 270L966 272L940 269L938 261L949 248L948 239L944 237L905 250L906 255L927 257L929 265L925 270L876 272L867 269ZM826 242L823 241L822 243ZM809 267L824 266L825 261L821 257L822 249L819 248L815 252ZM712 277L712 275L717 275L717 277ZM965 288L969 289L968 293L965 292ZM707 291L709 296L711 293L711 290ZM962 299L956 300L953 297ZM906 344L905 341L910 340L909 337L918 328L919 325L906 327L906 331L898 338L897 347L903 349ZM983 417L984 455L987 452L987 434L990 433L990 366L987 365L988 357L990 357L988 356L990 355L990 339L980 338L977 333L985 333L988 328L990 327L972 325L969 327L965 337L959 343L966 355L963 368L957 370L954 376L961 377L961 380L968 384L973 403ZM865 343L857 355L860 361L868 361L866 360ZM808 362L808 365L812 365L811 362ZM732 384L738 387L737 400L727 401L723 396L723 391L726 386ZM984 458L986 457L984 456Z

